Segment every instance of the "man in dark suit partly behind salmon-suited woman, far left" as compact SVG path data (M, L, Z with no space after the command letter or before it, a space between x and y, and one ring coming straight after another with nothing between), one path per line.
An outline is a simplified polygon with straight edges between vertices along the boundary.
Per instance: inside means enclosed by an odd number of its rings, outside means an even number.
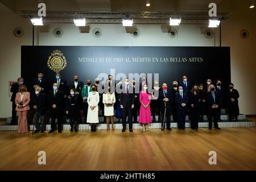
M13 102L13 106L12 106L12 110L11 110L11 125L16 125L16 104L15 104L15 97L16 97L16 93L19 92L19 86L23 85L23 78L19 77L18 78L18 83L12 84L11 85L11 93L13 93L11 95L11 102Z

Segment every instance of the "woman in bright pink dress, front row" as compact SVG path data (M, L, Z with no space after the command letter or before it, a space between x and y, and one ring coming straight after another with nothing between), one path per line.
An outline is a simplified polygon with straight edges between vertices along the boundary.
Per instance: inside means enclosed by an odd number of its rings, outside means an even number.
M151 123L150 101L151 94L147 92L147 85L144 84L142 91L139 93L139 102L141 102L139 123L143 123L143 131L148 131L148 123Z

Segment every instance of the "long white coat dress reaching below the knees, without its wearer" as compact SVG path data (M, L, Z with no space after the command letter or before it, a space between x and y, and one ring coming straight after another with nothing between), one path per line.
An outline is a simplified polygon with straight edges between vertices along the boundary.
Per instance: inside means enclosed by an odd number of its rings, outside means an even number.
M87 102L88 102L88 113L87 113L87 122L88 123L98 123L98 102L100 97L98 92L89 92ZM96 106L93 110L90 109L90 106Z

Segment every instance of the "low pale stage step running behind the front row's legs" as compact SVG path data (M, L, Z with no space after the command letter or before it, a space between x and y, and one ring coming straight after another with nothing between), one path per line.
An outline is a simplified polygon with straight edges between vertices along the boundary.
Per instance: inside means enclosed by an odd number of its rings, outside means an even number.
M248 120L241 120L237 122L229 122L229 121L222 121L218 122L219 127L255 127L255 122L254 121L248 121ZM150 129L160 129L161 128L161 123L150 123L148 126ZM177 123L171 122L171 127L172 128L177 128ZM185 123L185 127L189 128L191 127L190 122ZM208 122L199 122L199 127L208 127ZM122 124L121 123L115 123L114 124L115 129L122 129ZM127 124L126 128L128 129L129 126ZM33 129L33 125L30 125L30 130ZM50 130L51 125L46 125L46 130ZM106 130L106 124L105 123L99 123L97 126L98 130ZM133 129L142 129L142 125L140 123L133 123ZM5 123L3 125L0 125L0 131L16 131L18 130L17 125L9 125L9 123ZM63 130L70 130L70 125L69 123L65 123L63 125ZM79 125L79 130L90 130L90 125L89 124L80 124Z

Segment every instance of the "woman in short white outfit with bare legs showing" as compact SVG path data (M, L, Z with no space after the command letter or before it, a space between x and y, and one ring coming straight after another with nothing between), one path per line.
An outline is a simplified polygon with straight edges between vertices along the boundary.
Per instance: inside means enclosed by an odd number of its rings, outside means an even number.
M114 104L115 104L115 94L110 92L110 86L108 88L108 93L103 94L102 102L104 104L104 115L106 117L107 131L109 132L109 119L112 125L112 131L114 131Z

